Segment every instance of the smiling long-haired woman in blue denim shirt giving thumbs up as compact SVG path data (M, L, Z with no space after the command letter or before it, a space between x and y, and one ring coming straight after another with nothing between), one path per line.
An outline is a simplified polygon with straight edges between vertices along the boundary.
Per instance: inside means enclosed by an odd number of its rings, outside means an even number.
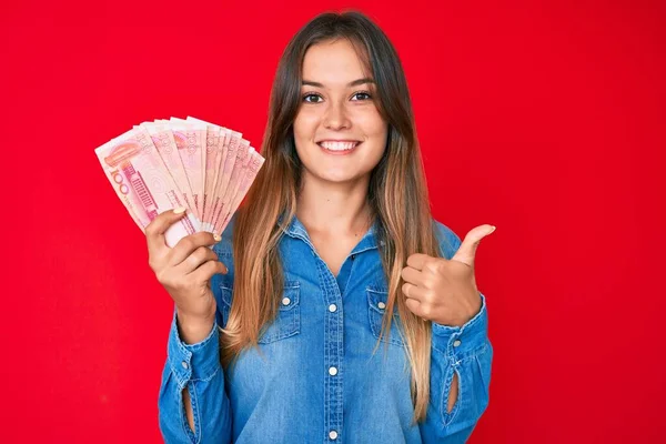
M222 240L169 249L182 210L147 229L175 302L165 442L465 442L488 402L473 261L494 228L461 244L432 219L402 65L365 16L289 43L262 154Z

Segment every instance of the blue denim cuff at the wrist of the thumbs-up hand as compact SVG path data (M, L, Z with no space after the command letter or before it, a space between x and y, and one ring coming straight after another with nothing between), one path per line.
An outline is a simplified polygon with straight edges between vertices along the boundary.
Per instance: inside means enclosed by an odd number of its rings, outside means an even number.
M463 356L472 353L487 340L488 315L486 300L481 294L481 310L463 326L450 326L432 323L433 347L447 354Z

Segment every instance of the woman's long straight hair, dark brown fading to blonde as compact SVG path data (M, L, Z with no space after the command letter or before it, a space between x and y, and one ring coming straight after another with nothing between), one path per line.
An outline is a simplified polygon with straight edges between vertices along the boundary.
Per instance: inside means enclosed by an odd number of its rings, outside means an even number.
M260 329L278 313L283 289L278 245L296 212L301 186L292 127L301 103L301 68L311 46L341 38L354 44L375 79L374 100L389 123L386 150L371 172L367 200L379 221L377 243L383 245L380 255L389 282L385 313L393 313L397 305L412 371L413 420L422 421L430 395L431 322L405 306L401 271L411 254L440 256L440 250L402 64L384 32L361 12L315 17L292 38L280 60L261 150L265 162L234 224L234 294L221 335L222 363L230 365L244 347L256 346ZM384 316L383 335L391 329L391 317Z

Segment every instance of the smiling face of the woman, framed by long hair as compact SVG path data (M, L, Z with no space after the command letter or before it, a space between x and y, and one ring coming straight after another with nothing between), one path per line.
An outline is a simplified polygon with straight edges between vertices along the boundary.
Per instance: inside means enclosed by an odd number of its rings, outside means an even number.
M304 181L353 182L369 176L386 148L387 123L373 98L376 85L346 40L307 49L294 121Z

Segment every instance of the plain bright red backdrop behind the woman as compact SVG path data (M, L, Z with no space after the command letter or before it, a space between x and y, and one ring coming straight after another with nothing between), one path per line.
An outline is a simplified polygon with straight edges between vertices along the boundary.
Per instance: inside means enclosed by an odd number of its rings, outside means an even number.
M93 150L188 114L259 147L282 49L346 7L402 57L435 218L497 226L471 442L665 442L664 2L124 0L0 7L0 441L161 441L173 306Z

